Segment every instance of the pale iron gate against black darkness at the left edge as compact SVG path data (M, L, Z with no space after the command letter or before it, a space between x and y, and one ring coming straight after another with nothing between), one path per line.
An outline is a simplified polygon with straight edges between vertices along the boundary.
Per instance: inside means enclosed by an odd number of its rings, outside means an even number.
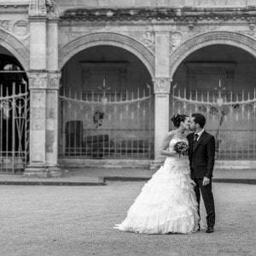
M23 172L28 160L29 96L26 82L0 84L0 172Z

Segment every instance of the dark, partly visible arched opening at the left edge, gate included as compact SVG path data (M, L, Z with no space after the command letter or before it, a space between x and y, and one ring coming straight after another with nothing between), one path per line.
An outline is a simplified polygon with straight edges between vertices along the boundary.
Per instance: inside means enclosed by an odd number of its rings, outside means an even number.
M0 172L23 172L28 160L28 87L20 62L0 46Z

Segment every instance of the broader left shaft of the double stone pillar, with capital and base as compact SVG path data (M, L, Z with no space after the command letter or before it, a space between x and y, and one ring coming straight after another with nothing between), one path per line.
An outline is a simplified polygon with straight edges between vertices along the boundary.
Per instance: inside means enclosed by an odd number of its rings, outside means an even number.
M45 113L46 88L46 22L45 3L31 0L29 6L30 23L30 72L27 73L30 90L30 141L29 164L26 176L47 177L45 166Z

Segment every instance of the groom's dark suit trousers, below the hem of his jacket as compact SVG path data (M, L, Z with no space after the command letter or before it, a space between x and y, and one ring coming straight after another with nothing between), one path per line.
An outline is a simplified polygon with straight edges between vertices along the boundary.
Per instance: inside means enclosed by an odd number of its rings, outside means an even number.
M200 198L202 197L207 210L207 226L213 227L215 224L215 207L212 195L212 178L207 186L202 185L203 178L192 177L195 182L195 196L198 202L198 215L200 216ZM200 197L201 191L201 197Z

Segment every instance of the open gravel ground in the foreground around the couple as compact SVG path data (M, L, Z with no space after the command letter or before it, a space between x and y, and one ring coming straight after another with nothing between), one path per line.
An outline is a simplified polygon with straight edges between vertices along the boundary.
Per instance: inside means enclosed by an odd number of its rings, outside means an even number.
M142 182L0 186L0 255L255 255L256 186L212 184L217 208L212 234L113 230L142 187Z

